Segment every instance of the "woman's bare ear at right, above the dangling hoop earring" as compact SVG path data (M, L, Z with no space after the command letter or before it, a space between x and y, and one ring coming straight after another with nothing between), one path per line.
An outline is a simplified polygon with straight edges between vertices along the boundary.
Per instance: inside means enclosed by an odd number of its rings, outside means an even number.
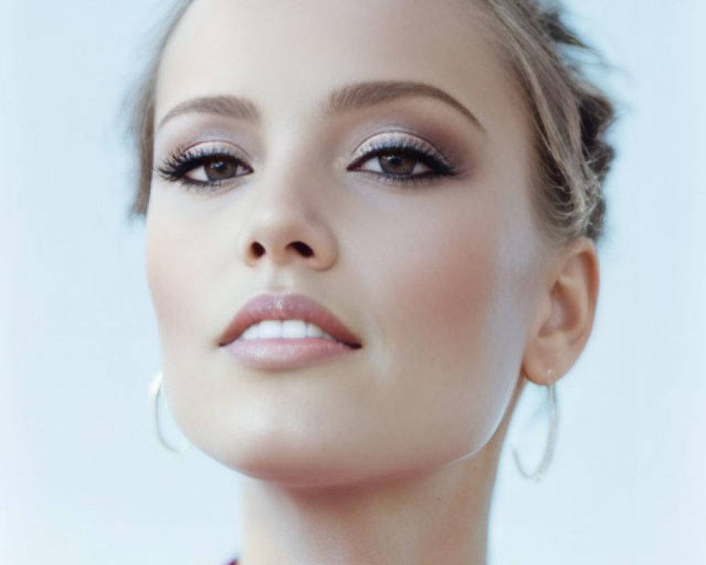
M593 327L599 267L594 242L580 237L550 263L522 369L530 381L549 385L573 366Z

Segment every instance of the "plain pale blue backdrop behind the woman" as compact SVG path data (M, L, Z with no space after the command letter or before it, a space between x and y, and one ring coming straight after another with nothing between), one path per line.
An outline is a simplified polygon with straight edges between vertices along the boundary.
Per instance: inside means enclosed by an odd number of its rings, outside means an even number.
M168 4L0 3L3 564L217 565L239 548L239 477L164 451L148 418L160 352L120 107ZM700 565L706 2L570 8L616 66L621 114L599 311L558 387L549 475L522 480L503 454L491 564ZM538 422L513 427L527 453Z

